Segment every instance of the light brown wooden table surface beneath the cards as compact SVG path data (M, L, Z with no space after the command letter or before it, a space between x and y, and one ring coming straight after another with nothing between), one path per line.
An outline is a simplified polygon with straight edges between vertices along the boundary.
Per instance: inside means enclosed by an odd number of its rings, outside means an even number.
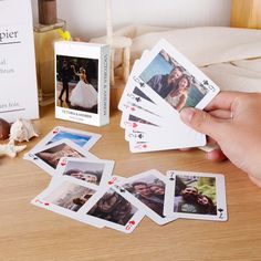
M200 150L132 154L118 127L121 113L111 124L93 127L54 118L44 107L35 124L41 137L58 125L102 134L91 149L115 160L115 174L129 177L156 168L223 173L229 220L213 222L180 219L157 226L145 218L132 234L96 229L51 211L30 200L42 191L50 176L19 157L0 158L0 260L261 260L261 189L229 161L211 163ZM40 138L41 138L40 137ZM40 139L32 139L28 149Z

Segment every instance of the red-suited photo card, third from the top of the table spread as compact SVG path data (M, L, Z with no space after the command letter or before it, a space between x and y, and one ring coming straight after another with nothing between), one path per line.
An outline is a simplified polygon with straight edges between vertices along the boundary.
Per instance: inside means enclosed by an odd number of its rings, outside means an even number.
M83 184L88 182L94 188L106 185L112 176L113 160L87 159L87 158L61 158L55 177L67 176L71 179L79 179Z

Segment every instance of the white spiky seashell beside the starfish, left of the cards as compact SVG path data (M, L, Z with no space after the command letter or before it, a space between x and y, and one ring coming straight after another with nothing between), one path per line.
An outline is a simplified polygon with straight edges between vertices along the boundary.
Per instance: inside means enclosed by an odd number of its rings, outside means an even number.
M19 143L25 140L29 142L30 138L39 136L34 130L34 127L29 119L19 118L11 125L10 128L10 140L17 140Z

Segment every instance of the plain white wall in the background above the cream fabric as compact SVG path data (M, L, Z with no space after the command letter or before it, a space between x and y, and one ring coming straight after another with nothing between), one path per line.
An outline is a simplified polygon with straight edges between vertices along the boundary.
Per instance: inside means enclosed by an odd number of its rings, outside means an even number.
M31 0L34 19L38 0ZM128 24L187 28L229 25L231 0L113 0L114 29ZM58 0L59 18L74 36L105 34L105 0Z

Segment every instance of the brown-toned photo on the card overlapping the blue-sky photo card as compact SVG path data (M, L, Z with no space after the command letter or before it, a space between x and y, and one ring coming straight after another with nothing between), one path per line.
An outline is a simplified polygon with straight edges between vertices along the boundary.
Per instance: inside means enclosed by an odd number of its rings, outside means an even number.
M76 149L72 148L65 143L61 143L56 146L53 146L48 149L43 149L35 154L39 158L41 158L44 163L46 163L52 168L56 168L60 158L62 157L74 157L74 158L81 158L84 157L81 153L79 153Z

